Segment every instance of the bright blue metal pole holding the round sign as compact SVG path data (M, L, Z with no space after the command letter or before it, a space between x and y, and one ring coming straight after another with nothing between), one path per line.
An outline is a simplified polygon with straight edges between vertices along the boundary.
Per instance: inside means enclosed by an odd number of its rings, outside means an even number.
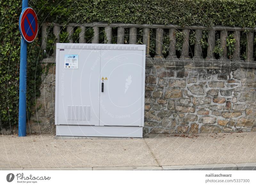
M28 7L28 0L22 0L22 10ZM26 81L27 81L27 42L20 40L20 95L19 95L19 136L26 136Z

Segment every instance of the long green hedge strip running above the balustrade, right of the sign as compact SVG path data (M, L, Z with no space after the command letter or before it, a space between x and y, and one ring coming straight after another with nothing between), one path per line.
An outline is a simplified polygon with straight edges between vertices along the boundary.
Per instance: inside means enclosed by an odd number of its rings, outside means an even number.
M255 0L38 0L42 20L255 27ZM61 18L58 16L61 15Z

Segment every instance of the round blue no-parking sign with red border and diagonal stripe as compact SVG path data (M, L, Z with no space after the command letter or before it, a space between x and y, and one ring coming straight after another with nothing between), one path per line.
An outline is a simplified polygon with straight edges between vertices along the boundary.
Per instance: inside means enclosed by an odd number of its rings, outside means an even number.
M32 8L27 7L22 10L19 28L20 34L26 42L31 43L34 41L38 32L38 22L36 12Z

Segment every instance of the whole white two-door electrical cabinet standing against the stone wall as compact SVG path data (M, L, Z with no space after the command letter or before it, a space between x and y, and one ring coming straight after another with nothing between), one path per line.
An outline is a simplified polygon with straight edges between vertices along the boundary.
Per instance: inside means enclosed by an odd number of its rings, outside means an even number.
M145 45L57 43L56 136L142 137Z

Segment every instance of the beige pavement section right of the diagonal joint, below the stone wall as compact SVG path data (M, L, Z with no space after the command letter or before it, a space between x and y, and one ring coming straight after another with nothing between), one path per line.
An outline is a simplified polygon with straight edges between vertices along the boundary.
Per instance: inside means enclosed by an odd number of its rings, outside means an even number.
M144 138L160 166L256 162L256 133L151 135Z

